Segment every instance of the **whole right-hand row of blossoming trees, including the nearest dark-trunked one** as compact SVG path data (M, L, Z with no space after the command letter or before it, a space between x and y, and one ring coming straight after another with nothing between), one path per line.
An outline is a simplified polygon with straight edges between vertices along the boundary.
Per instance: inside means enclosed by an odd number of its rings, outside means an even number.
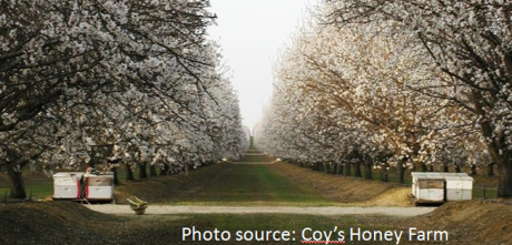
M512 4L323 1L275 65L256 145L298 163L498 169L512 197ZM361 171L360 171L361 172Z

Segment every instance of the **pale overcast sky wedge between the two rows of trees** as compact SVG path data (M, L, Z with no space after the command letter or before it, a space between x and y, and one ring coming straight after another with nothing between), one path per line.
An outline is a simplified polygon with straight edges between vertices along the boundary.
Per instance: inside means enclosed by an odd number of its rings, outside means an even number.
M223 48L238 91L244 124L262 118L273 91L273 61L289 43L301 18L315 0L210 0L217 25L209 33Z

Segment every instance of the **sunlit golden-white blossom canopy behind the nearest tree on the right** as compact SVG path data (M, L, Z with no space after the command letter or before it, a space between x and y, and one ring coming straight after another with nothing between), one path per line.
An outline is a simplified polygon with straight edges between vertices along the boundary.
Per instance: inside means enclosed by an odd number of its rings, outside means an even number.
M328 9L321 9L325 10ZM291 142L302 142L304 137L332 135L335 139L331 142L305 154L323 154L333 161L332 151L342 153L348 162L356 163L356 175L361 175L357 162L373 160L383 170L396 166L398 181L404 182L406 166L422 165L425 170L426 164L439 163L436 156L445 146L442 142L449 140L455 144L474 135L469 130L474 116L450 100L421 91L420 88L436 85L436 92L445 93L445 88L437 85L445 78L435 74L436 70L430 65L432 59L421 49L421 42L407 32L395 32L394 28L393 22L383 21L342 28L312 24L303 29L276 72L275 96L278 99L272 101L267 112L270 116L262 123L268 127L260 124L262 136L267 140L266 136L272 135L277 145L285 142L293 145ZM331 116L336 111L342 113ZM297 118L296 123L302 126L293 129L302 130L303 135L279 139L279 135L291 135L279 130L291 127L280 125L279 129L280 121L276 119L289 115ZM319 120L303 120L307 116ZM358 134L349 136L354 131ZM336 144L336 137L346 144ZM479 139L470 143L477 144ZM461 156L452 153L451 157Z

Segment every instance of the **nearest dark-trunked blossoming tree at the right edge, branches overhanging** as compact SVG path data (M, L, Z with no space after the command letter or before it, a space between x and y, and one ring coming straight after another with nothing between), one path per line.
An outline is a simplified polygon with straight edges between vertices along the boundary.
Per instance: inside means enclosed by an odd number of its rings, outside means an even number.
M499 170L500 197L512 197L510 1L326 1L331 22L392 21L423 45L443 73L442 92L425 86L477 118L481 141Z

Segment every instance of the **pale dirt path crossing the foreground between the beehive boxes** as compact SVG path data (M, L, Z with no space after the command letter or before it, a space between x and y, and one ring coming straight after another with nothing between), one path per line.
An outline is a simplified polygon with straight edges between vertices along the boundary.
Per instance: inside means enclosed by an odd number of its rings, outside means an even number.
M131 215L128 205L86 205L105 214ZM151 205L146 214L305 214L305 215L385 215L410 217L430 213L435 207L247 207L247 206L197 206L197 205Z

